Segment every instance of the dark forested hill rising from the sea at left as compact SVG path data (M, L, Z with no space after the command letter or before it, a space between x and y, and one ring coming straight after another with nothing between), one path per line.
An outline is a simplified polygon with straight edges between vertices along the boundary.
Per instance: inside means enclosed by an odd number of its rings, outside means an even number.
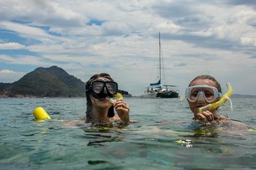
M0 96L82 97L85 83L60 67L38 67L12 84L0 83Z

